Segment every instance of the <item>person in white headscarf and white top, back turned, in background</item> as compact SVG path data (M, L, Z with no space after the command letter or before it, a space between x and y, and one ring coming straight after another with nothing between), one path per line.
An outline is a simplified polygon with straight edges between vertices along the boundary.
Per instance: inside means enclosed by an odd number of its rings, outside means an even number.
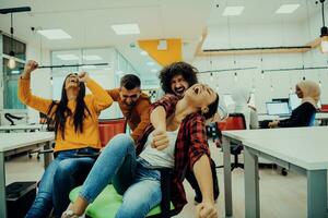
M258 129L258 116L256 108L248 106L250 90L246 87L238 87L233 90L232 99L235 101L235 113L243 113L245 117L246 129Z

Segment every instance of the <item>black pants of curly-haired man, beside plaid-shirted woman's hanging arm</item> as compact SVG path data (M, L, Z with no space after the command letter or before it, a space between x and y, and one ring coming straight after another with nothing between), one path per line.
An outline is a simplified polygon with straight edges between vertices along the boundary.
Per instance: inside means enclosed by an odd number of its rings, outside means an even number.
M215 170L215 162L214 162L214 160L212 160L212 158L210 159L210 165L211 165L211 171L212 171L212 178L213 178L213 196L214 196L214 199L216 199L219 197L220 190L219 190L219 182L218 182L218 175L216 175L216 170ZM196 180L194 172L189 168L186 171L186 180L190 183L191 187L195 190L195 193L196 193L195 201L198 203L201 203L202 196L201 196L201 192L200 192L198 182Z

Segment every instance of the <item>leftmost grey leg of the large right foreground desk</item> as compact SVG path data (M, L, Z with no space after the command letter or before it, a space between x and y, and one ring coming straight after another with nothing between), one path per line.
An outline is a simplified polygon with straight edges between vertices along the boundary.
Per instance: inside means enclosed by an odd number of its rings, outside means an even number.
M232 217L233 215L230 147L230 140L223 136L224 199L226 217Z

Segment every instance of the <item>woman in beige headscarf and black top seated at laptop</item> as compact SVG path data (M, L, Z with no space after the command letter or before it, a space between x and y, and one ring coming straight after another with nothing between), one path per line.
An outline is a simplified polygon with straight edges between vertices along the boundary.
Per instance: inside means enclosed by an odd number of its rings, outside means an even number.
M318 109L320 87L312 81L301 81L296 84L295 94L302 99L301 105L292 111L290 119L269 122L269 128L308 126Z

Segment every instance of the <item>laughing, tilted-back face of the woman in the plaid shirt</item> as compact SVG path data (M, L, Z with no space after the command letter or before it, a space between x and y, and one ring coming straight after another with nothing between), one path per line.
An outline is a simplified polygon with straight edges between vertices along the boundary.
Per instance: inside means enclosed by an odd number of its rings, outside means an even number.
M185 93L185 98L190 106L201 108L202 112L207 112L207 107L216 99L216 93L208 85L195 84Z

